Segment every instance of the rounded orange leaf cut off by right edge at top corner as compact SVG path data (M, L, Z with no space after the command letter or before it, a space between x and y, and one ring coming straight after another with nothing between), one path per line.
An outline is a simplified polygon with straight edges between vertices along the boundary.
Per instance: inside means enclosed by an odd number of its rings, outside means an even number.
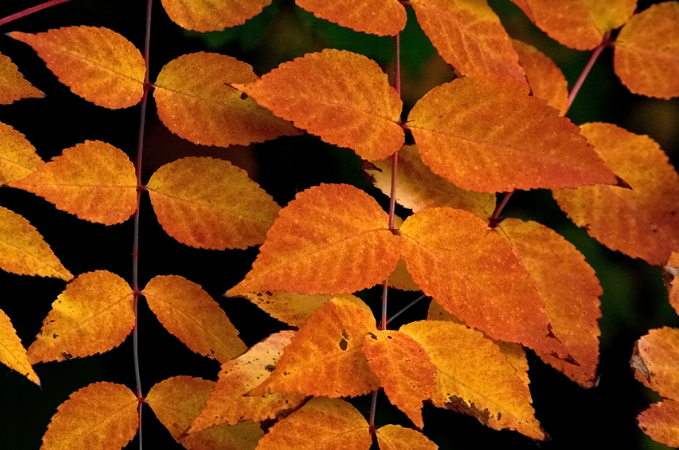
M632 16L615 39L613 67L634 94L679 96L679 2L657 3Z

